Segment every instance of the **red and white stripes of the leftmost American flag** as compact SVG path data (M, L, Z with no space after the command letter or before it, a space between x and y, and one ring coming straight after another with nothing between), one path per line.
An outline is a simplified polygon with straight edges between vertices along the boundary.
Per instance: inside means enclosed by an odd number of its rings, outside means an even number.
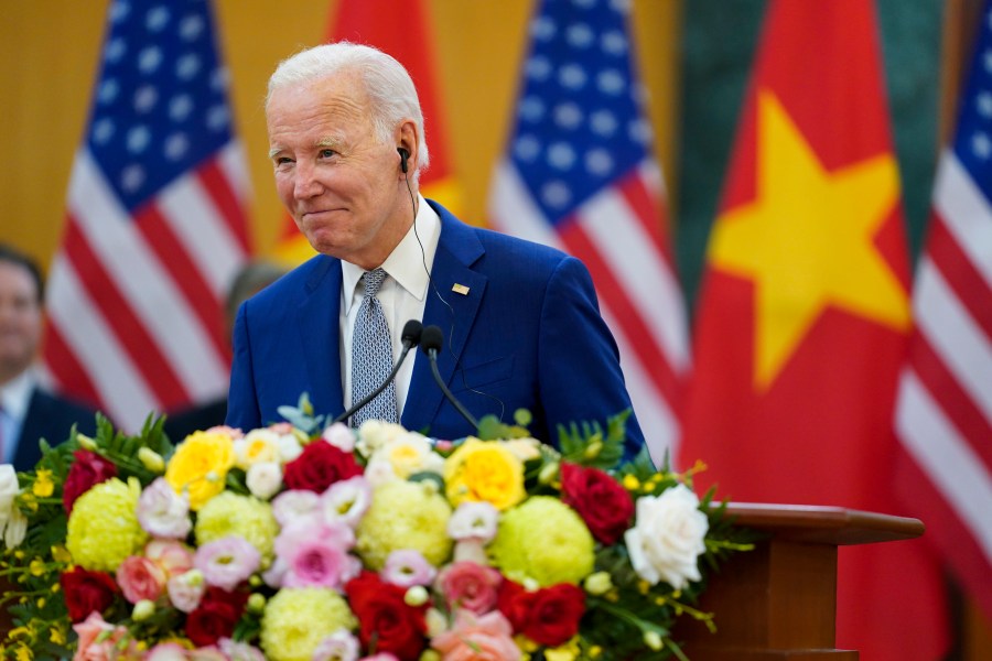
M223 395L222 301L248 256L248 176L237 142L172 182L133 216L84 148L50 275L45 364L134 432L152 411Z

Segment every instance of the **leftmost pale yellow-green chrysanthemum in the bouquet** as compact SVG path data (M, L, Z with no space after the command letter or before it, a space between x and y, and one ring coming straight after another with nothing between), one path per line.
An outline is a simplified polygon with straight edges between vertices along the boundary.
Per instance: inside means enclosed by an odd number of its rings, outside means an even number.
M140 495L137 479L125 484L115 477L76 499L65 540L76 564L84 570L115 572L144 546L148 533L134 513Z

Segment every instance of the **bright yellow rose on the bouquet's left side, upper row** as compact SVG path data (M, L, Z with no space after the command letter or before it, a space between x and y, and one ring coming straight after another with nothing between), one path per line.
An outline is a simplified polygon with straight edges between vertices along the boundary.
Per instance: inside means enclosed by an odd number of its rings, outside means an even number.
M175 448L165 468L165 481L176 494L188 494L190 509L195 511L224 490L224 480L234 460L230 436L194 432Z

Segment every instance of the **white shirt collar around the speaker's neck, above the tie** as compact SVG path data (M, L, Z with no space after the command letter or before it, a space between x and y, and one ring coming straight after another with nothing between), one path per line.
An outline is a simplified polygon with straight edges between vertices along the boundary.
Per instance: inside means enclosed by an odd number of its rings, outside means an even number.
M422 195L418 194L417 197L417 218L399 245L382 262L382 269L407 293L418 301L423 301L430 282L428 269L434 263L434 252L438 250L438 239L441 236L441 218ZM342 291L345 292L343 311L347 315L352 308L355 288L362 280L365 269L344 260L341 268Z

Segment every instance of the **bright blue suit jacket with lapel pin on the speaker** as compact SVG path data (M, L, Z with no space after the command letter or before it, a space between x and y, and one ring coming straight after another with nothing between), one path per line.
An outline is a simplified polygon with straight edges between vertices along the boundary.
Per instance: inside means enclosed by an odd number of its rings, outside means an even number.
M429 204L441 216L441 237L422 322L444 332L439 369L465 408L476 418L503 413L505 421L516 409L528 409L531 434L549 443L557 443L558 424L603 423L629 408L616 343L582 262L471 227ZM294 405L302 392L317 413L333 418L344 411L341 283L341 261L317 256L241 305L227 424L249 430L279 421L278 407ZM467 294L453 292L456 283ZM473 432L444 400L420 351L401 423L439 438ZM643 445L632 415L626 457Z

